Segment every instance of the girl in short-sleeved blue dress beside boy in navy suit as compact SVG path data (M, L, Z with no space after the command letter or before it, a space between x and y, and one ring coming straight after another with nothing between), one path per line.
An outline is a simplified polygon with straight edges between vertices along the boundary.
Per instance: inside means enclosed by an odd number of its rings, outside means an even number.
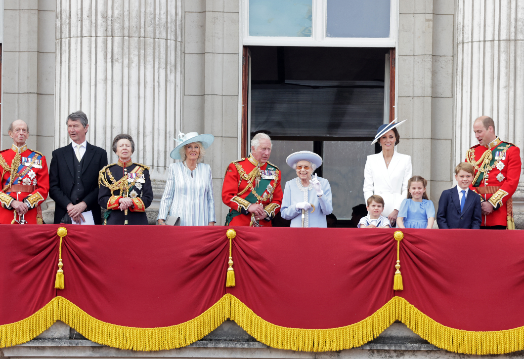
M402 201L398 212L399 228L432 228L435 206L425 191L428 181L413 176L408 181L408 198Z

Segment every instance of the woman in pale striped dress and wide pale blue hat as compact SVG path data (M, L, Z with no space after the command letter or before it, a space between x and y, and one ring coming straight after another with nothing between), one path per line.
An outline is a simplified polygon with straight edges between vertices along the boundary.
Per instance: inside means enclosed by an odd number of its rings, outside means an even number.
M181 226L213 226L215 202L211 166L205 164L205 149L213 143L212 134L179 133L171 158L181 160L169 166L166 188L158 210L158 224L167 216L180 217Z

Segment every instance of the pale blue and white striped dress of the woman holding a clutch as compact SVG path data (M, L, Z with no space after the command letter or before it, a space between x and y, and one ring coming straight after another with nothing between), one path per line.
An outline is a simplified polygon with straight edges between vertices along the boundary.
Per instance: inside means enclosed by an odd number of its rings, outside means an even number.
M166 188L160 200L158 219L180 217L180 226L207 226L215 220L211 166L199 163L191 171L183 162L169 165Z

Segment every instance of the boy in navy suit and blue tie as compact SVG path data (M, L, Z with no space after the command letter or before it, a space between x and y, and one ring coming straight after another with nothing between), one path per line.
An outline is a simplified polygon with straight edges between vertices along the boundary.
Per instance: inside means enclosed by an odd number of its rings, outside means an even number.
M480 229L482 222L481 196L470 187L474 167L462 162L455 167L457 185L442 192L436 223L439 228Z

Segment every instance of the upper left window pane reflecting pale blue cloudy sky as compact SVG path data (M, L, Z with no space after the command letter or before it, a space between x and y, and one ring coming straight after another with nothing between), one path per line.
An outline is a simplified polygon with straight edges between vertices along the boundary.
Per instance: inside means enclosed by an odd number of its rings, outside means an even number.
M311 37L312 0L250 0L249 36Z

